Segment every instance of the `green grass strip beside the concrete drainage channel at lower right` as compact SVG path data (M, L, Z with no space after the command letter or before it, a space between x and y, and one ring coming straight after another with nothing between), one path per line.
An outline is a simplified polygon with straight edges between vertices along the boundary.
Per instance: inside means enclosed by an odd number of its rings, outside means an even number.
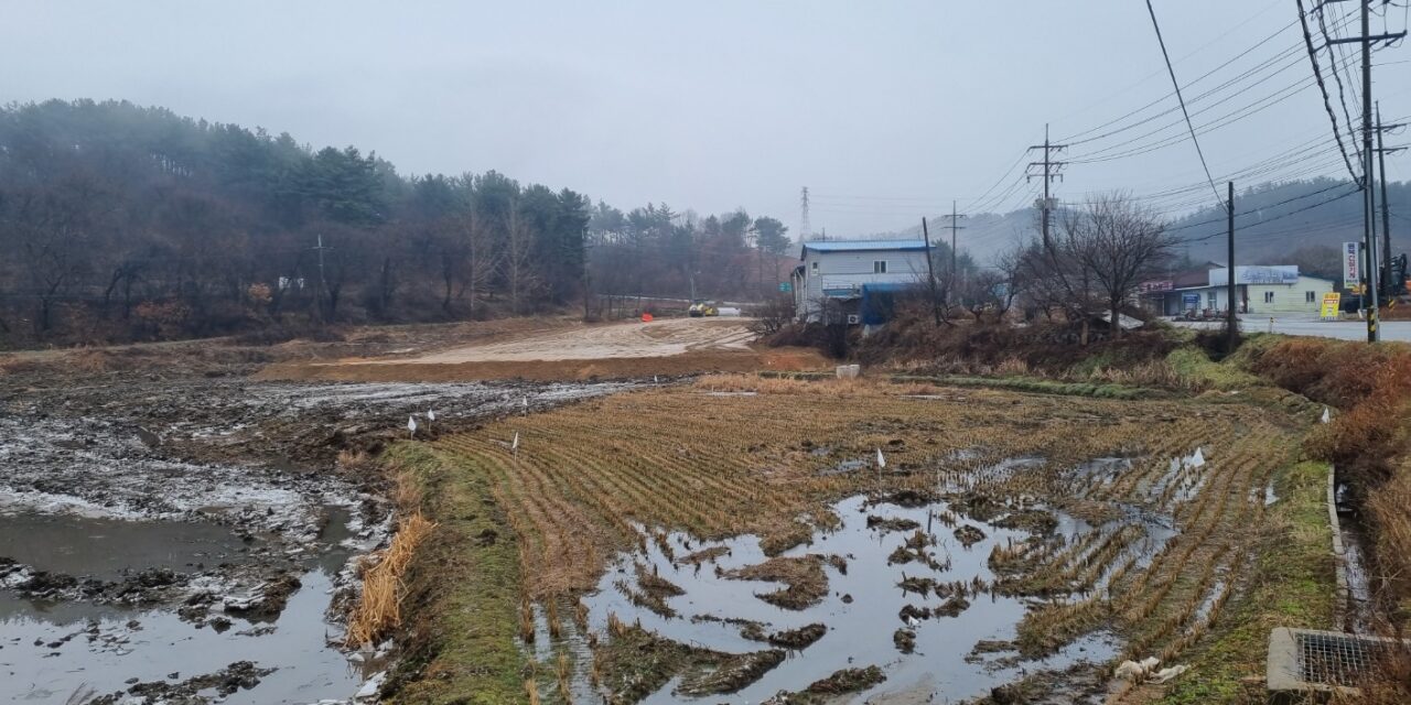
M1221 626L1191 653L1191 671L1177 680L1160 702L1264 702L1263 682L1268 632L1278 626L1328 629L1336 609L1336 567L1328 525L1324 462L1300 462L1280 471L1281 498L1270 508L1267 526L1246 591L1225 611ZM1163 664L1165 666L1165 664Z

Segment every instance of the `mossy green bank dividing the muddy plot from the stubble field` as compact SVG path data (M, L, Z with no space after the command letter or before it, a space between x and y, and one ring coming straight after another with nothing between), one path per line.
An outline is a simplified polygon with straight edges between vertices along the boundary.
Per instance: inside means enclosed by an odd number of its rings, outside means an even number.
M525 658L515 640L519 550L488 478L464 458L450 462L420 443L398 443L384 461L405 474L437 523L411 567L408 612L416 622L389 701L526 701Z

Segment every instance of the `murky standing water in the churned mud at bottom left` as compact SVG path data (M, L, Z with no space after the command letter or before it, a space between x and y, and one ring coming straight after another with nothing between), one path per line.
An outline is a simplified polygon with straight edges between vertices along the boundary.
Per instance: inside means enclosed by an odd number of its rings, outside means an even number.
M25 599L0 589L0 701L65 702L79 694L126 692L165 684L165 699L226 704L306 704L349 699L367 673L350 666L326 620L339 572L354 553L350 516L325 509L319 550L295 565L299 587L275 618L247 620L223 613L183 619L179 603L130 606L100 601ZM248 543L229 527L190 522L124 522L76 516L0 516L0 556L37 570L121 580L164 568L196 572L250 560ZM189 616L189 615L188 615ZM231 670L250 661L258 682ZM217 678L192 678L224 674ZM222 692L233 688L233 692ZM193 698L193 699L186 699Z

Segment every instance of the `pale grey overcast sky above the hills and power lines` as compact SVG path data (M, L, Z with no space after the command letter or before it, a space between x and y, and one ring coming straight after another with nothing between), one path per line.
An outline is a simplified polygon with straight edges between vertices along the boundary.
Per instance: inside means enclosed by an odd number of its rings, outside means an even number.
M830 235L910 227L952 199L962 212L1027 204L1038 182L1019 186L1019 172L1006 169L1043 140L1046 121L1055 138L1077 135L1171 90L1141 0L4 0L0 8L6 102L127 99L288 131L315 147L351 144L402 173L497 169L622 209L742 206L793 234L801 186L814 196L813 230ZM1208 109L1192 116L1198 125L1270 99L1201 138L1216 180L1332 144L1298 49L1294 0L1157 0L1156 8L1182 83L1281 31L1188 89L1192 113ZM1386 20L1388 30L1404 23L1401 8ZM1274 58L1249 80L1192 100ZM1401 48L1376 56L1386 63L1376 82L1388 121L1411 116L1408 59ZM1331 78L1329 89L1338 100ZM1174 107L1161 100L1088 137L1127 130L1068 154L1136 138L1098 152L1123 155L1178 137L1184 123L1143 138L1180 121L1178 111L1132 127ZM1247 180L1346 175L1328 154L1273 162ZM1394 178L1403 159L1390 165ZM1072 164L1057 195L1143 195L1202 180L1181 140ZM1208 186L1154 203L1178 212L1202 195L1213 203Z

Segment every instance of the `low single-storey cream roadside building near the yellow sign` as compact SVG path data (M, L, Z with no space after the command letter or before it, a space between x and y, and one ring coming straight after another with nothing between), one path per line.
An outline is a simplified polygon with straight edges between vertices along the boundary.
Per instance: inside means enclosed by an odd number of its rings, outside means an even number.
M1235 300L1239 313L1318 314L1322 296L1335 290L1331 279L1301 274L1297 265L1246 265L1235 268ZM1204 281L1197 272L1182 272L1181 278L1156 279L1141 283L1146 305L1161 316L1182 316L1192 312L1215 316L1229 310L1229 268L1211 262Z

